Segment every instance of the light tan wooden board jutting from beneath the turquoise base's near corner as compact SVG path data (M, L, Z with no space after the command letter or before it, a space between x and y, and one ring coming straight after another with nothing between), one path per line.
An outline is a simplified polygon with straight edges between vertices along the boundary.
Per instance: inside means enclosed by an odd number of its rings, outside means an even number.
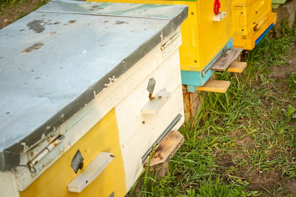
M197 90L207 92L225 93L230 86L230 81L208 80L205 85L199 86Z

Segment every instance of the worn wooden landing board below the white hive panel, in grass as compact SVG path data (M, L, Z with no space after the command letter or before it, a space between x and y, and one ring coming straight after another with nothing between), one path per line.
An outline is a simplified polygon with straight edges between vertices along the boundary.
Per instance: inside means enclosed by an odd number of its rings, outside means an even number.
M184 142L184 137L179 131L171 131L156 147L150 161L149 171L165 167ZM148 165L149 158L144 166Z

